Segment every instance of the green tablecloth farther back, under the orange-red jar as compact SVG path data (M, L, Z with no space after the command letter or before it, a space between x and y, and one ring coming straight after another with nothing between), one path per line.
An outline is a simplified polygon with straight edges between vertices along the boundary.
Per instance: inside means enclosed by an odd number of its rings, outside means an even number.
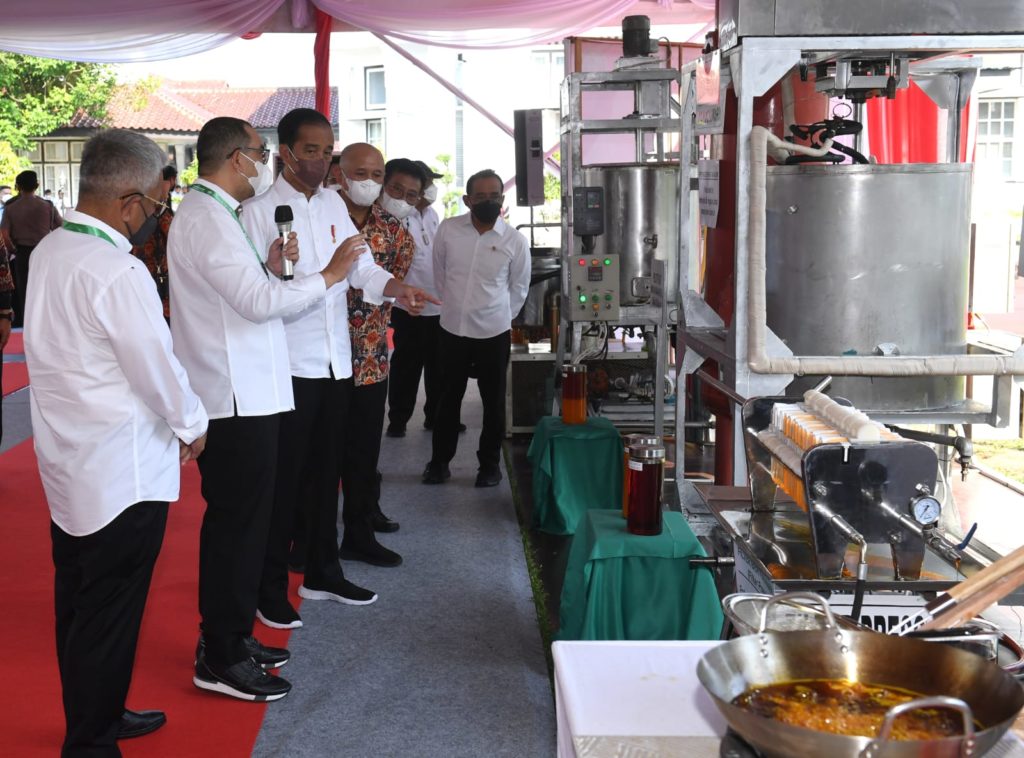
M552 535L575 533L590 508L623 507L623 438L607 419L537 423L526 453L534 467L534 523Z

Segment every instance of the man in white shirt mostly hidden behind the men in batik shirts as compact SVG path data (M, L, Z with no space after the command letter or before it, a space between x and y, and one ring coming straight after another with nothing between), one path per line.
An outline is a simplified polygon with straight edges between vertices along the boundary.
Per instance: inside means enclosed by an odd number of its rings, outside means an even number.
M422 287L436 295L434 290L434 236L440 219L433 203L437 200L434 179L442 174L433 171L423 161L415 161L423 171L427 184L415 210L404 219L406 228L416 243L413 264L406 275L406 283ZM440 366L437 363L437 335L440 331L440 312L437 305L427 305L419 317L413 318L400 304L391 308L391 328L394 330L394 351L391 353L391 380L388 384L389 437L406 435L406 426L416 408L420 390L420 374L426 401L423 404L423 428L432 429L437 398L440 396ZM465 428L465 427L463 427Z

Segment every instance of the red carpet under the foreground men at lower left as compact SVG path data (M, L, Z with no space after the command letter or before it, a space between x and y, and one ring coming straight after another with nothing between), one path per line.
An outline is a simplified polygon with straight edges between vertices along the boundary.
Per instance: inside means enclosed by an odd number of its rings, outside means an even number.
M171 504L128 694L129 708L166 711L167 725L121 743L128 757L248 756L266 708L204 692L191 683L199 629L199 529L205 508L199 479L196 464L185 466L181 500ZM5 513L0 596L9 601L4 642L13 654L6 659L9 684L0 694L0 745L4 755L53 756L63 735L53 649L53 563L49 516L31 439L0 456L0 503ZM296 587L293 581L297 605ZM256 634L271 645L288 640L287 632L259 624Z

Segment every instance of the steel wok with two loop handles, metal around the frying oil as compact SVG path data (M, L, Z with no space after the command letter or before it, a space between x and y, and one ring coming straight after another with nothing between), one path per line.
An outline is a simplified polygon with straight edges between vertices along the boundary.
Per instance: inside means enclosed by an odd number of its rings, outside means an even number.
M764 632L739 637L709 650L697 677L729 725L768 758L952 758L984 755L1024 706L1024 689L998 666L945 645L873 632L840 630L828 603L810 593L778 599L820 602L826 628L818 631ZM763 616L767 615L766 606ZM920 692L916 707L943 705L961 710L965 736L929 741L888 741L883 725L874 739L844 736L791 726L742 710L732 701L751 687L797 679L849 679ZM938 703L934 698L942 698ZM898 706L900 712L912 704ZM893 709L887 715L891 726ZM975 729L973 721L980 726Z

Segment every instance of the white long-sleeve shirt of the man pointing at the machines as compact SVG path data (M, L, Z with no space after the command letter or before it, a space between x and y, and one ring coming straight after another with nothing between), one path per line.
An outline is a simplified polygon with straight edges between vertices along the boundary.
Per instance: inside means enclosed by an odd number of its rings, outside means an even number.
M267 192L242 204L242 224L257 250L269 248L278 237L274 211L279 205L292 209L292 231L299 243L296 279L314 275L330 262L335 249L358 234L348 216L345 202L333 190L322 190L309 200L278 177ZM292 376L324 379L334 372L336 379L352 375L352 345L348 330L349 284L362 290L362 299L374 305L384 302L384 287L391 275L374 262L368 252L356 258L348 278L328 290L327 297L297 313L286 315L288 354Z

